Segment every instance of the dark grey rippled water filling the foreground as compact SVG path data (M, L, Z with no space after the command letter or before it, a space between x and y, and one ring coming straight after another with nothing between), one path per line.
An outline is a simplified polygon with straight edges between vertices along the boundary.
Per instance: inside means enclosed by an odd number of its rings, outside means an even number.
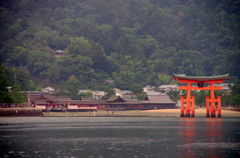
M0 157L240 157L240 119L2 117Z

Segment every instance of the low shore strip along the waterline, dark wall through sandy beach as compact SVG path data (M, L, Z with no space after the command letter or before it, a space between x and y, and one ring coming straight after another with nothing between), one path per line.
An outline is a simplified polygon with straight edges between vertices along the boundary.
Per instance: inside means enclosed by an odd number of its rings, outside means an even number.
M196 117L205 117L205 108L195 110ZM97 112L42 112L36 108L0 108L0 117L180 117L180 109L126 110ZM222 117L240 117L240 112L222 109Z

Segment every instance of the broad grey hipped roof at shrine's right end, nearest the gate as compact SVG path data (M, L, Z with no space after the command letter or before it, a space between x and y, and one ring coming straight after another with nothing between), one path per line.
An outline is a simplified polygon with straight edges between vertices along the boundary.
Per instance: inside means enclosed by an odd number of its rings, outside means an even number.
M142 103L175 104L168 95L149 95Z

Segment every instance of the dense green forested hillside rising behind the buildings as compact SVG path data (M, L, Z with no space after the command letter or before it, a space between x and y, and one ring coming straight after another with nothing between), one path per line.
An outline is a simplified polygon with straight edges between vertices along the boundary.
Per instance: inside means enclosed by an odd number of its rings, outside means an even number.
M0 6L0 65L36 85L99 90L112 79L107 86L131 89L171 84L172 73L230 73L227 82L240 82L240 0L1 0ZM55 57L56 50L65 56ZM29 83L22 90L33 89Z

